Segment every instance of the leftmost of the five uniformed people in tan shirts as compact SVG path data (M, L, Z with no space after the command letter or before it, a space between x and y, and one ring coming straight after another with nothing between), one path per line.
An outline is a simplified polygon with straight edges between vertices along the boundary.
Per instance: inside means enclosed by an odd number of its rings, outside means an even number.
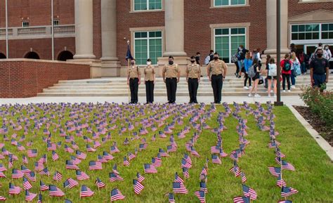
M131 104L138 103L138 85L141 84L141 73L136 66L136 60L131 59L131 65L127 72L127 84L131 90Z

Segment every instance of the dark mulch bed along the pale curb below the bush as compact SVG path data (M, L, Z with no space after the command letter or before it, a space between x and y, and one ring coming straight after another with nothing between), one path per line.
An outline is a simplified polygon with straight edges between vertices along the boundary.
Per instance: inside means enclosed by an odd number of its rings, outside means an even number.
M323 122L317 114L313 114L309 107L304 106L294 106L294 108L301 114L301 116L306 119L306 121L311 124L313 129L318 131L320 136L327 140L329 145L333 147L333 131L325 126L325 122Z

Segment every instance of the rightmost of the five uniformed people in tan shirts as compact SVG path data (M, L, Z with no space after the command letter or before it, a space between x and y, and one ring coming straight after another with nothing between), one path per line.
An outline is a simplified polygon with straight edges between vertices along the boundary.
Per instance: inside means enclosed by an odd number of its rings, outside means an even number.
M227 65L223 60L218 59L218 53L214 53L214 60L207 65L207 75L211 81L214 93L214 103L221 103L222 85L226 78Z

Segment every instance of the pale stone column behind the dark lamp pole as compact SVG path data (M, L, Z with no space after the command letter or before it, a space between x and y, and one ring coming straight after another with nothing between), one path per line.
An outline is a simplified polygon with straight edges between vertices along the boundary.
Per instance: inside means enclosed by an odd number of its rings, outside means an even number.
M276 54L276 19L276 0L267 0L267 48L265 54ZM281 54L289 53L288 47L288 1L281 0Z

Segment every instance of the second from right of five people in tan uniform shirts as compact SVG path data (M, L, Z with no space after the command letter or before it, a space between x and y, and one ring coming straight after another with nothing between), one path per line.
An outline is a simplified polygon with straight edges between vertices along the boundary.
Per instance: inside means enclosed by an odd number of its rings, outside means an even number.
M190 103L197 103L197 88L201 76L200 65L195 63L195 56L191 56L191 64L186 67L186 81L188 81L188 92Z

